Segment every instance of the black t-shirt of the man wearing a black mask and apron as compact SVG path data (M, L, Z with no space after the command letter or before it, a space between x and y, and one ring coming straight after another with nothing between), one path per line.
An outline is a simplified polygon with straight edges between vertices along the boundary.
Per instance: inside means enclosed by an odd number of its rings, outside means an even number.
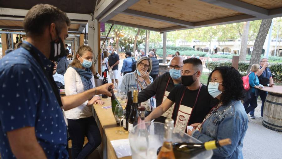
M169 96L167 97L169 100L175 102L175 109L174 109L173 116L172 116L174 121L176 120L176 116L177 116L177 112L179 108L179 102L181 100L185 87L186 86L184 85L178 85L174 87L170 91ZM187 88L185 90L185 94L181 101L181 105L193 108L195 101L196 101L198 91L199 89L189 90ZM193 123L203 122L206 115L210 112L212 107L215 105L213 104L213 101L214 101L213 97L208 93L206 85L202 85L199 96L198 96L198 100L196 102L195 108L193 109L188 125L191 125Z

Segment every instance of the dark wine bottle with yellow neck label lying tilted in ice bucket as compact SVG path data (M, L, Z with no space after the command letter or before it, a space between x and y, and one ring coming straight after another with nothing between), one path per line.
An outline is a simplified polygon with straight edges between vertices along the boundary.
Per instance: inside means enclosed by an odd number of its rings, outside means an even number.
M206 150L213 150L218 147L222 147L224 145L230 145L231 140L230 139L223 139L223 140L213 140L208 141L201 144L196 143L175 143L173 145L173 151L175 154L175 158L177 159L186 159L186 158L192 158L199 153L206 151Z

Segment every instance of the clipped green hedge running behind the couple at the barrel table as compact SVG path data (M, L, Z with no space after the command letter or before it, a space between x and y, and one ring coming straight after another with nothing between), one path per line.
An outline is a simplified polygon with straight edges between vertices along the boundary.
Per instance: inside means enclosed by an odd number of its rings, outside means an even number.
M275 78L276 80L282 81L282 63L269 63L269 64L270 64L269 69L271 71L273 78ZM210 71L215 69L215 67L217 67L217 66L232 66L232 62L230 62L230 61L226 61L226 62L214 61L214 62L206 63L206 67ZM246 75L249 72L248 67L249 67L248 62L239 62L238 71L242 75Z

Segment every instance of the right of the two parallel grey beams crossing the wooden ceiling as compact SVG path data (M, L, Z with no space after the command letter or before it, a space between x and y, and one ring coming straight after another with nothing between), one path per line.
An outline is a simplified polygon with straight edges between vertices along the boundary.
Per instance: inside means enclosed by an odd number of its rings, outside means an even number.
M269 10L238 0L200 0L220 7L228 8L240 13L262 17L269 15Z

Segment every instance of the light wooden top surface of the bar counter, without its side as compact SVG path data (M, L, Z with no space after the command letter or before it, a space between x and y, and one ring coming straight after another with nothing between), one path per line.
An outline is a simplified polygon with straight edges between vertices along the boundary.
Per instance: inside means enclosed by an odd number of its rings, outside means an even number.
M99 118L100 124L106 134L107 137L107 147L109 150L107 150L107 158L109 159L115 159L118 158L116 156L116 153L112 147L112 144L110 141L112 140L119 140L119 139L128 139L128 131L125 131L125 134L119 135L116 134L116 131L119 130L119 126L117 126L114 115L112 113L112 108L110 109L103 109L102 107L110 106L111 105L111 98L108 97L106 99L101 98L103 101L105 101L104 105L97 105L94 104L93 107L95 109L96 115ZM131 156L122 157L119 159L131 159Z

